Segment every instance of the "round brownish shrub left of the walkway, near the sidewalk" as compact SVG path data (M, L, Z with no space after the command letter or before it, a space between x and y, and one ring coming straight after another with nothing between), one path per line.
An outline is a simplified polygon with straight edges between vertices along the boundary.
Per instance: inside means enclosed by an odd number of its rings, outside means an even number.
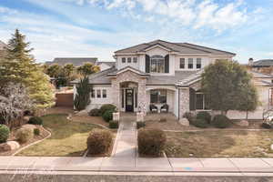
M93 129L87 138L88 154L99 155L109 151L113 135L106 129Z

